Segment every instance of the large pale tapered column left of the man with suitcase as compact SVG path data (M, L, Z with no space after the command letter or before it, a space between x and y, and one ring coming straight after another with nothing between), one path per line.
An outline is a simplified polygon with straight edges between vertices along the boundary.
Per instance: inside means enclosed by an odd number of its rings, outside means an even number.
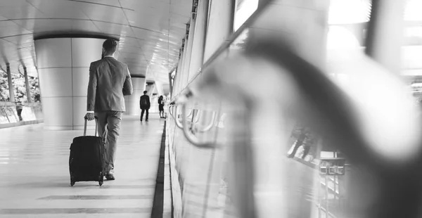
M34 41L45 129L84 128L89 65L101 58L103 41L71 37Z

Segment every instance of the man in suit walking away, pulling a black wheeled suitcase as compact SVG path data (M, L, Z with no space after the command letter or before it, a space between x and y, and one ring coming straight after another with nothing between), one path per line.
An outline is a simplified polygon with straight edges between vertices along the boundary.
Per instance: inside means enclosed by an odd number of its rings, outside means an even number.
M106 154L106 179L114 180L115 151L122 113L126 110L124 96L133 92L132 79L127 65L116 60L117 41L103 43L101 60L89 67L87 119L98 117L98 135L103 137ZM107 125L107 131L106 131Z

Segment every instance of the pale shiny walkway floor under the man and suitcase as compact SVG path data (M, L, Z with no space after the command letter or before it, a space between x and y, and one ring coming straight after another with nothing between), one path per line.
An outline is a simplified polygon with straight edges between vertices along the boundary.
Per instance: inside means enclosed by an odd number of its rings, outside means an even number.
M69 148L82 131L0 129L0 217L150 217L164 119L124 117L115 181L70 186ZM94 130L91 130L94 132Z

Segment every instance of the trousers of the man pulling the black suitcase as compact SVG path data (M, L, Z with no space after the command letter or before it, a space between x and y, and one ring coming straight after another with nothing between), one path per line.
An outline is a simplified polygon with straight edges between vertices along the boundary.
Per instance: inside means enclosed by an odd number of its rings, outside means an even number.
M110 172L114 169L122 114L123 113L120 111L101 111L95 113L98 117L98 135L103 137L104 146L106 148L106 172Z

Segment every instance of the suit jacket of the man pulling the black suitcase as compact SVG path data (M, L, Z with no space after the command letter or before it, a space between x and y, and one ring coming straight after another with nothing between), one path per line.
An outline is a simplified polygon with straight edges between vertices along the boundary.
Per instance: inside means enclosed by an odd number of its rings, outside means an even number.
M127 65L105 57L89 67L88 111L126 110L124 96L132 95L132 79Z

